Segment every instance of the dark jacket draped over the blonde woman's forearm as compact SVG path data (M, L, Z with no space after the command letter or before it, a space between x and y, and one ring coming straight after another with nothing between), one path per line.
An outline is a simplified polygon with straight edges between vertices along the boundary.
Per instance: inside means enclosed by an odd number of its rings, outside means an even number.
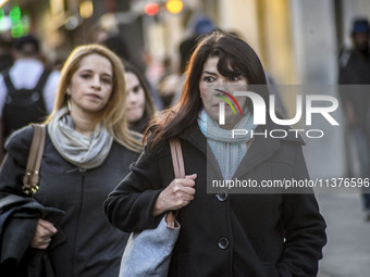
M53 236L48 250L32 249L38 218L57 225L64 212L46 207L33 198L10 194L0 199L0 272L3 277L53 277L49 250L65 241L62 230Z

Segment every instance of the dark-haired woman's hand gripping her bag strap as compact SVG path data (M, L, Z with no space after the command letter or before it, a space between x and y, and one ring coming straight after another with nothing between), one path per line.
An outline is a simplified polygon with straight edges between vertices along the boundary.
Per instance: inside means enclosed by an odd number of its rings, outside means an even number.
M178 210L186 206L194 199L196 174L187 175L185 178L178 178L171 184L158 196L153 216L160 215L166 211Z

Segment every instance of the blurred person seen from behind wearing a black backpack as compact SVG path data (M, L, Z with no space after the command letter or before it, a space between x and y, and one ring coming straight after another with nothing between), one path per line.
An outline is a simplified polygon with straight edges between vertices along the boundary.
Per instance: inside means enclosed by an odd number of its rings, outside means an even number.
M52 111L59 81L59 72L45 67L35 36L14 41L14 58L10 70L0 75L1 150L12 131L46 119Z

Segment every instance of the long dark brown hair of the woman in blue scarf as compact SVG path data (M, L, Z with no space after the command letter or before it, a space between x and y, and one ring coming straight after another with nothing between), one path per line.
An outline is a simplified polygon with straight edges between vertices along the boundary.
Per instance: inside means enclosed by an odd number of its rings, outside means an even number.
M214 30L198 42L192 54L180 102L157 116L145 133L149 150L161 146L165 139L178 136L186 127L197 122L198 114L202 109L199 80L203 65L211 56L219 58L218 71L223 76L243 75L246 77L248 90L250 90L250 85L264 85L256 86L252 91L259 93L268 103L267 78L256 52L243 39L221 30ZM248 102L247 104L250 106L250 101Z

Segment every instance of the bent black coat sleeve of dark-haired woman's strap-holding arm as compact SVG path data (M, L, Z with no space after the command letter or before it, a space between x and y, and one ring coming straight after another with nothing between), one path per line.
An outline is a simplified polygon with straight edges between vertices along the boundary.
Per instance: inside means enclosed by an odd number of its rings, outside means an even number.
M109 194L104 202L108 221L123 231L156 228L162 215L152 216L159 193L164 189L155 152L144 153L131 166L131 173Z

